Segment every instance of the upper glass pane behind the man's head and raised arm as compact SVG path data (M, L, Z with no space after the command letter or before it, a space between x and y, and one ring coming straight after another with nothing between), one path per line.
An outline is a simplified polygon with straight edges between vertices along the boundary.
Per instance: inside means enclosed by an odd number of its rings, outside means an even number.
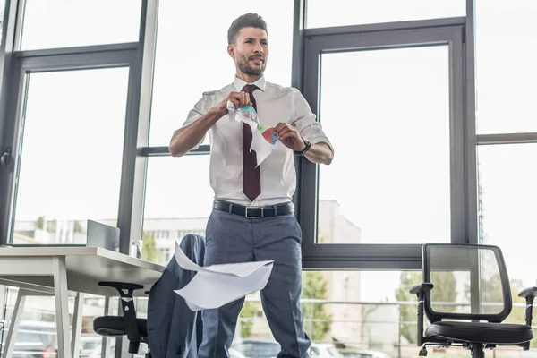
M208 12L209 8L211 11ZM267 81L289 86L292 1L251 1L240 6L219 0L160 1L149 134L151 146L169 144L173 132L183 125L202 92L219 90L234 81L233 59L226 50L227 29L235 18L249 12L259 13L267 21L270 48L265 72ZM192 14L201 14L201 17ZM200 26L200 23L205 25ZM196 36L191 35L193 28ZM178 43L181 46L177 46ZM209 144L209 135L205 143Z

